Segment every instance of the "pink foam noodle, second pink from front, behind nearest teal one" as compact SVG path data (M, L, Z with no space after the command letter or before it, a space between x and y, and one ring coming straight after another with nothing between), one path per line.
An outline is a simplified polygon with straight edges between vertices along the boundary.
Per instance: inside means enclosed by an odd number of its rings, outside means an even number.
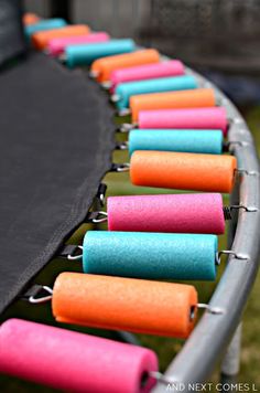
M218 193L108 198L108 229L129 232L223 234L223 198Z

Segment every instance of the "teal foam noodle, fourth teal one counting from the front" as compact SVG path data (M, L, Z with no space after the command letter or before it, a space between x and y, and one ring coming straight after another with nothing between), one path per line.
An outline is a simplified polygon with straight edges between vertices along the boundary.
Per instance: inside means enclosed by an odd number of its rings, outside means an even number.
M68 67L76 65L90 65L95 60L120 53L129 53L136 50L136 43L131 39L110 40L97 44L68 45L65 49L65 59Z

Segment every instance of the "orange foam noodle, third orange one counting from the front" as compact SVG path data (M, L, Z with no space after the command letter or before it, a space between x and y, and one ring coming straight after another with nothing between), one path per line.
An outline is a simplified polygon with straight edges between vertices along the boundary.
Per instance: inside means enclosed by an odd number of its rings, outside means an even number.
M132 121L137 123L141 110L204 108L216 105L213 88L196 88L185 92L166 92L136 95L129 102Z

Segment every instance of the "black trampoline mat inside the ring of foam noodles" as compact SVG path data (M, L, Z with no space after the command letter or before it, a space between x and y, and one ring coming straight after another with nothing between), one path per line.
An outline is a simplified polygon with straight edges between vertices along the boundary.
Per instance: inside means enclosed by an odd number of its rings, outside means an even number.
M100 86L43 54L0 73L0 312L84 221L115 147Z

